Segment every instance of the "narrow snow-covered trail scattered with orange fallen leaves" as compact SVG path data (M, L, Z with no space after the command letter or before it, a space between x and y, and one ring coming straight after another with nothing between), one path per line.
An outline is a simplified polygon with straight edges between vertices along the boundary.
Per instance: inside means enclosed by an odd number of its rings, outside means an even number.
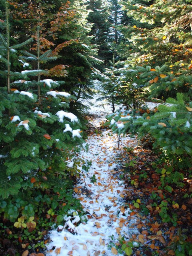
M93 125L98 127L106 111L97 109L96 113ZM64 227L52 230L47 256L122 255L115 248L118 238L124 236L129 240L132 234L138 234L136 219L134 216L130 218L130 209L125 204L126 187L117 172L117 153L124 146L134 146L134 139L122 138L118 149L117 136L110 130L102 130L99 134L90 134L86 142L89 150L82 152L80 157L92 164L88 175L82 172L74 188L74 194L86 212L85 220L80 220L76 212L66 218ZM93 175L94 183L90 180Z

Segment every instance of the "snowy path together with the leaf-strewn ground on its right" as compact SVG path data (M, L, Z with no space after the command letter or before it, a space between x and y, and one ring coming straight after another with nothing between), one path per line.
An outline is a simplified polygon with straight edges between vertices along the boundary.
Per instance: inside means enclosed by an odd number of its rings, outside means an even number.
M87 169L80 166L74 196L80 199L85 218L72 209L65 225L50 232L46 255L176 255L178 245L191 242L191 207L186 205L192 200L183 199L189 186L174 195L158 189L160 175L152 168L157 156L129 136L121 137L118 145L117 135L102 126L106 114L108 109L91 107L89 149L80 154ZM158 215L155 198L163 201L165 194L171 198L172 211L178 212L177 228Z

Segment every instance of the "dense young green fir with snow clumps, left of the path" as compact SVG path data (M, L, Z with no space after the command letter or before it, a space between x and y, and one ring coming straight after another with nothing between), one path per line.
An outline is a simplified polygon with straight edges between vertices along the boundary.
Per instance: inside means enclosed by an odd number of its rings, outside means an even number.
M8 19L5 23L8 23ZM37 54L24 51L23 56L19 57L24 68L36 68L17 72L19 80L16 81L10 80L14 72L11 71L8 56L10 54L11 57L15 49L26 45L28 41L10 48L8 28L6 25L7 37L0 36L4 53L1 60L9 67L9 71L3 71L8 83L0 95L2 198L17 194L21 188L28 190L34 183L31 179L43 183L42 176L48 179L46 186L49 184L51 187L51 179L54 179L56 172L58 175L67 170L64 159L69 153L66 150L74 149L82 140L81 124L74 114L68 112L70 101L75 100L74 96L55 90L62 82L41 79L41 76L49 76L48 70L41 69L41 64L55 57L51 51L40 52L40 27L37 26L36 34Z

